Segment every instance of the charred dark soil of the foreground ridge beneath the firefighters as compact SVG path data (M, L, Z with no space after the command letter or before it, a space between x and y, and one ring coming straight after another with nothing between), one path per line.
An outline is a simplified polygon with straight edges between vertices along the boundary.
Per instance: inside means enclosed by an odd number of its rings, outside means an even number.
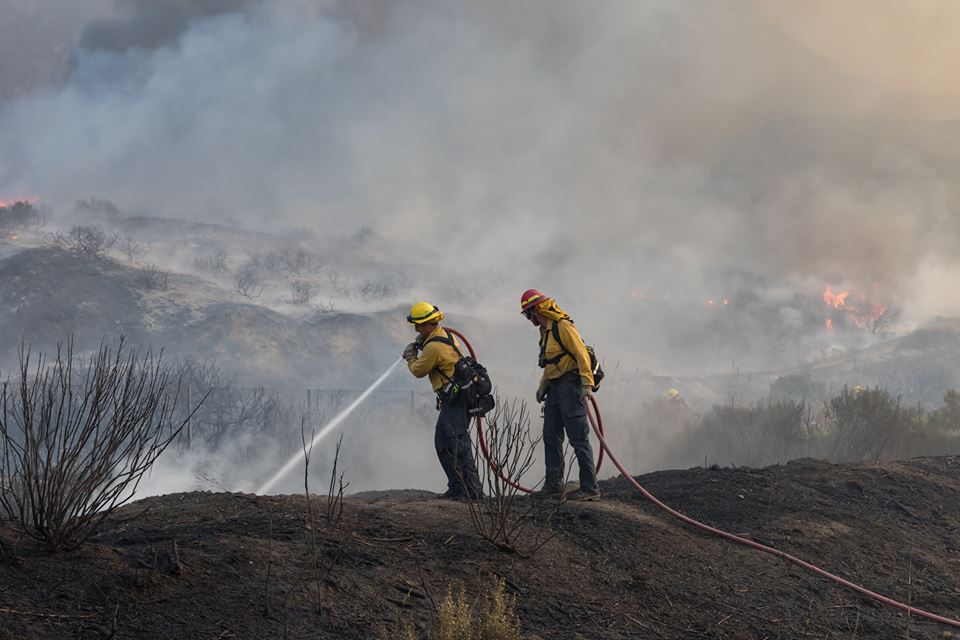
M708 524L960 617L960 458L639 479ZM149 498L53 556L7 526L0 638L376 638L398 616L426 629L451 585L472 599L490 576L525 638L960 637L683 526L622 479L602 490L562 505L531 557L480 539L466 504L413 490L348 497L332 527L325 497L314 526L303 496Z

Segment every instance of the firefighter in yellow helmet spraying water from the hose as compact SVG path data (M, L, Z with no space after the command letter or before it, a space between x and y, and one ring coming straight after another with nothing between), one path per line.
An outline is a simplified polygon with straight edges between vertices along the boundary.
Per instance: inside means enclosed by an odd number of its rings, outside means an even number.
M407 322L413 325L417 338L403 350L403 359L417 378L429 376L437 393L440 415L433 441L440 466L447 474L447 491L441 497L477 499L483 491L473 458L470 419L452 383L453 368L462 348L456 338L440 327L441 320L443 313L429 302L418 302L410 308Z

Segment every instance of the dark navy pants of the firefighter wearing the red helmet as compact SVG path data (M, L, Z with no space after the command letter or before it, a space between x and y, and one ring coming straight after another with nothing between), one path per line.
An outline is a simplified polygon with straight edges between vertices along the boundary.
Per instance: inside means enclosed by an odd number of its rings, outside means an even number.
M543 451L547 475L545 489L563 486L563 435L570 438L570 446L580 466L580 488L597 491L597 471L590 446L590 425L581 396L580 375L577 372L554 380L547 387L543 405Z

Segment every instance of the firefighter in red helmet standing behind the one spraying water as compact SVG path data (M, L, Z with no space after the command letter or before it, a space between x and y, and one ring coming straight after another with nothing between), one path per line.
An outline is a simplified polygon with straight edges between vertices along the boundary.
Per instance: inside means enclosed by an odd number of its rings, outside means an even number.
M540 329L539 365L543 376L536 397L537 402L544 403L546 477L543 489L535 495L577 501L598 500L600 492L584 402L594 387L590 354L570 316L553 298L530 289L520 298L520 312ZM580 486L566 495L563 487L564 434L570 439L580 467Z

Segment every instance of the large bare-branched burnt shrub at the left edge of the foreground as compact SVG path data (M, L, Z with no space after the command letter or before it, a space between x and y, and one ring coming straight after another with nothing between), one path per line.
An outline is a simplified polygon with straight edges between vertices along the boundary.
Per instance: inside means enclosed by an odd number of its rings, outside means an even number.
M72 340L52 362L23 346L19 356L19 379L2 392L0 504L48 551L73 549L183 429L180 385L162 354L128 351L123 339L85 362Z

